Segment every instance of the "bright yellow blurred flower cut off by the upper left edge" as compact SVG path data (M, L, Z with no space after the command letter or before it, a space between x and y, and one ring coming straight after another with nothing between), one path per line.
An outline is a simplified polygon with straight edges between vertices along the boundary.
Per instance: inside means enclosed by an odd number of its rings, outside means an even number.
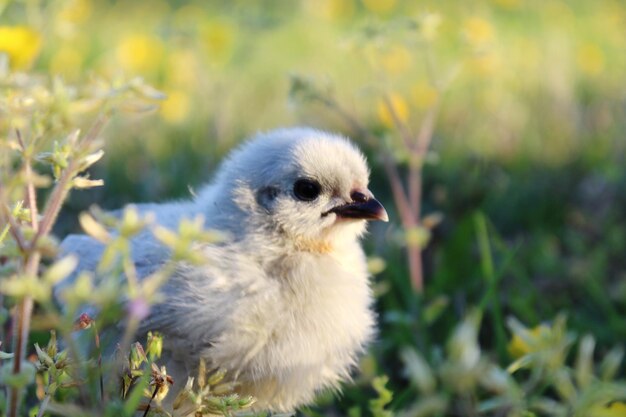
M9 58L12 69L29 69L41 47L41 36L26 26L0 26L0 53Z

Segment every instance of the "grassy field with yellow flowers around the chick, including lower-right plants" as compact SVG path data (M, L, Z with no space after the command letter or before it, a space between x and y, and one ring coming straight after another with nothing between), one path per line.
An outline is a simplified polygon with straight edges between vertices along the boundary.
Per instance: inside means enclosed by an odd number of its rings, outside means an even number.
M0 185L16 129L37 131L14 103L22 72L51 86L27 93L50 148L103 95L141 96L116 105L89 170L104 186L70 194L58 237L93 204L189 196L258 131L340 132L391 218L364 243L379 336L354 383L299 413L624 416L625 28L619 0L0 2ZM390 172L419 178L413 223ZM4 320L19 297L0 288Z

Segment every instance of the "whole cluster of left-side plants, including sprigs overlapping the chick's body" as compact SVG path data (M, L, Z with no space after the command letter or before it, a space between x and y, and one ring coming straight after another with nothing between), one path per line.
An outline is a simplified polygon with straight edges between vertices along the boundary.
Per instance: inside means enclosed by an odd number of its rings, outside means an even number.
M148 334L144 349L133 338L175 263L202 262L192 245L219 236L205 231L201 218L183 221L172 231L153 225L149 215L141 217L132 208L119 218L94 208L79 221L104 245L102 257L94 274L81 272L67 281L78 260L71 255L55 259L58 241L52 235L69 193L102 185L87 171L103 156L106 121L129 102L146 110L159 98L159 92L139 79L97 81L77 89L60 80L48 83L45 77L0 71L0 324L12 335L11 353L0 352L3 415L22 415L25 406L34 407L38 417L131 416L137 410L144 416L169 415L159 405L173 382L157 364L162 340ZM90 118L94 121L81 134L76 126ZM160 270L139 280L130 239L146 229L172 256ZM96 315L85 313L86 306ZM118 359L105 365L100 330L122 318ZM33 322L51 329L45 348L30 344ZM7 334L0 334L3 349ZM57 334L64 340L63 350ZM27 359L33 350L34 363ZM181 391L177 406L182 411L174 415L228 414L253 403L252 398L233 394L231 385L220 385L223 373L207 380L204 372L195 385L190 380Z

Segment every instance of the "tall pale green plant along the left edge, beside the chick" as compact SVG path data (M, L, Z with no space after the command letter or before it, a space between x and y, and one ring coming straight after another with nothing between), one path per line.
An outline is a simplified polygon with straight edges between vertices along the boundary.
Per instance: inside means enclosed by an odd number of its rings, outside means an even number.
M72 189L102 185L86 171L103 155L100 134L119 103L128 99L148 103L158 93L138 79L97 82L78 90L58 79L49 83L45 77L12 73L4 65L0 68L0 293L3 311L13 311L13 343L12 354L3 355L2 381L7 388L5 412L13 417L20 414L26 388L34 382L34 368L25 360L33 314L59 324L61 334L71 340L76 311L68 308L64 313L52 299L55 284L77 263L71 257L53 260L57 241L51 232L61 206ZM95 120L81 134L75 126L90 115ZM83 277L78 284L86 281ZM46 367L52 376L66 374L68 359L78 363L76 354L70 358L65 351L57 354L54 336L47 353L38 347L37 353L40 368ZM47 401L65 386L60 381L54 384L48 386Z

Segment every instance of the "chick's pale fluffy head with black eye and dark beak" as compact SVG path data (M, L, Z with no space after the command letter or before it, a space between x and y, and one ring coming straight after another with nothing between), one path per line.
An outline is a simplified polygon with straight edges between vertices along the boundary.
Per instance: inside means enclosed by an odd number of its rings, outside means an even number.
M387 221L368 181L365 157L351 142L309 128L258 135L218 176L248 228L305 247L354 239L367 220Z

